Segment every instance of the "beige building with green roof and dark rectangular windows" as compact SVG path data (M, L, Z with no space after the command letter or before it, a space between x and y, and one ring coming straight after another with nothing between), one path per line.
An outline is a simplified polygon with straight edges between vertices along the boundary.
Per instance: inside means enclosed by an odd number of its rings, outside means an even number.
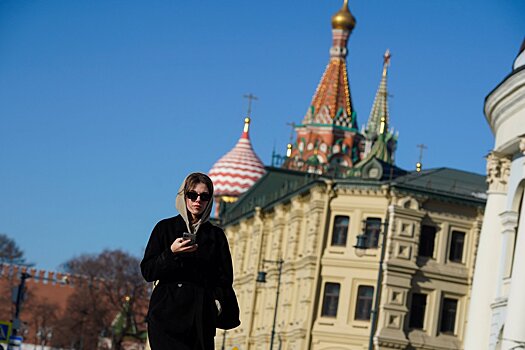
M383 244L375 348L462 348L484 177L371 167L345 180L268 168L225 209L242 323L217 348L268 349L274 328L274 349L367 349Z

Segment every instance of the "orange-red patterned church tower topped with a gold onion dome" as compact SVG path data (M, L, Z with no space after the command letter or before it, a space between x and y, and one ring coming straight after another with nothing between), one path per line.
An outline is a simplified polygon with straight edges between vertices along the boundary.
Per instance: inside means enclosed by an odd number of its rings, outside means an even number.
M330 59L300 124L293 124L296 143L287 145L283 166L324 174L351 168L360 159L360 137L353 110L347 44L355 27L348 0L332 16ZM345 170L346 171L346 170Z

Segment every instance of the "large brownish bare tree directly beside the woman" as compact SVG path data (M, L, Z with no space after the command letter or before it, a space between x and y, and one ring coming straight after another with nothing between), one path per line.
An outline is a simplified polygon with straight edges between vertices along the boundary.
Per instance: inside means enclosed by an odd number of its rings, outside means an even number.
M125 338L139 337L148 301L139 263L122 250L105 250L64 264L67 272L84 277L68 300L62 328L76 349L96 349L94 342L106 336L112 338L113 349L120 350Z

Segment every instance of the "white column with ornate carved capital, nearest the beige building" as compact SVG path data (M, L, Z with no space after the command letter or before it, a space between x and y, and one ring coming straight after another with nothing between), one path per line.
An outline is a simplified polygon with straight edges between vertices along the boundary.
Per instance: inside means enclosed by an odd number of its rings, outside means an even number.
M487 182L489 191L485 216L479 237L476 266L467 318L465 350L487 350L491 330L492 309L498 269L494 268L501 252L502 225L499 214L505 210L507 200L507 174L502 171L501 159L494 153L487 158ZM507 176L506 176L507 175Z

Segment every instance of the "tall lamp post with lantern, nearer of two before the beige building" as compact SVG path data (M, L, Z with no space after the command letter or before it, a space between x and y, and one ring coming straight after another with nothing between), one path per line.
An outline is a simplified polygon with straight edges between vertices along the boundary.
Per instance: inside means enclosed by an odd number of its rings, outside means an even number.
M356 237L356 244L354 245L356 255L361 257L364 255L366 250L370 248L368 246L367 242L367 230L368 230L368 223L365 222L365 228L364 232L360 235L357 235ZM385 252L386 252L386 232L388 230L388 221L385 221L381 224L383 226L381 232L379 233L381 235L381 253L379 258L379 269L377 271L377 283L376 283L376 290L374 293L374 303L372 310L370 311L370 314L372 316L372 319L370 320L370 339L368 340L368 350L374 350L374 333L377 329L377 320L378 320L378 314L379 314L379 299L381 298L381 282L383 280L383 261L385 260Z

